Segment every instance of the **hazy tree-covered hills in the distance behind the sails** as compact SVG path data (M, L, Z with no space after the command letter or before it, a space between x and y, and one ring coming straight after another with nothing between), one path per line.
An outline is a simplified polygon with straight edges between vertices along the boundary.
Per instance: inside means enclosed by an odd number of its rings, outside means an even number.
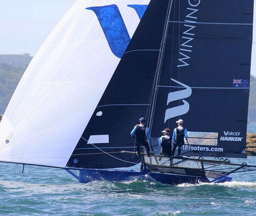
M28 55L0 55L0 114L4 114L31 59ZM250 80L248 116L250 122L256 122L256 78L253 76Z

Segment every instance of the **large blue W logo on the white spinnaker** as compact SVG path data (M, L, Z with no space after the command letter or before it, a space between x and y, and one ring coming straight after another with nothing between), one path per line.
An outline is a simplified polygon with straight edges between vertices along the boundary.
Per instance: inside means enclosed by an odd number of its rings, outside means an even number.
M148 5L142 4L129 4L127 6L137 12L140 20L148 7ZM111 51L116 57L122 58L131 38L116 4L85 9L92 10L96 14Z

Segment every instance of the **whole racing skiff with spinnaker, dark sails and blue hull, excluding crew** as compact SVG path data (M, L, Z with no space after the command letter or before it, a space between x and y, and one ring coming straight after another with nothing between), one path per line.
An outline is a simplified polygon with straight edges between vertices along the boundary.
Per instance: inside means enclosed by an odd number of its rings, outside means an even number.
M12 96L0 161L62 168L81 183L217 183L255 170L227 159L247 157L252 29L253 0L76 1ZM142 116L150 157L134 155L130 136ZM181 118L189 138L170 166L158 138Z

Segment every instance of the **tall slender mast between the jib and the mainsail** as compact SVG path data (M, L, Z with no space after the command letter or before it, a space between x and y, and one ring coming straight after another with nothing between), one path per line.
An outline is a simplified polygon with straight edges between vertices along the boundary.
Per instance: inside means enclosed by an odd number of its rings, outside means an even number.
M151 128L152 128L151 126L153 124L153 114L154 114L154 107L155 107L155 102L156 102L157 83L158 83L158 80L159 80L159 74L160 74L161 65L162 65L162 62L163 62L164 47L165 47L165 41L166 41L169 19L170 19L170 15L171 15L172 1L173 0L169 0L169 4L168 4L168 9L167 9L165 23L164 23L163 37L162 37L162 41L161 41L159 57L158 57L158 62L157 62L157 66L156 66L156 82L153 84L155 86L155 91L154 91L154 96L153 96L153 101L152 101L152 106L151 106L151 114L150 114L149 125L148 125L149 129L150 129L150 132L151 132Z

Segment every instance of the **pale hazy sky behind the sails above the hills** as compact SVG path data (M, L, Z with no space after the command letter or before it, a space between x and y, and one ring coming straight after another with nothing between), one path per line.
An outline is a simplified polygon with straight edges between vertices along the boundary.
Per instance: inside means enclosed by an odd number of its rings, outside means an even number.
M75 0L0 0L0 54L36 51ZM256 14L254 0L254 14ZM256 23L256 16L253 21ZM251 73L256 76L256 28Z

